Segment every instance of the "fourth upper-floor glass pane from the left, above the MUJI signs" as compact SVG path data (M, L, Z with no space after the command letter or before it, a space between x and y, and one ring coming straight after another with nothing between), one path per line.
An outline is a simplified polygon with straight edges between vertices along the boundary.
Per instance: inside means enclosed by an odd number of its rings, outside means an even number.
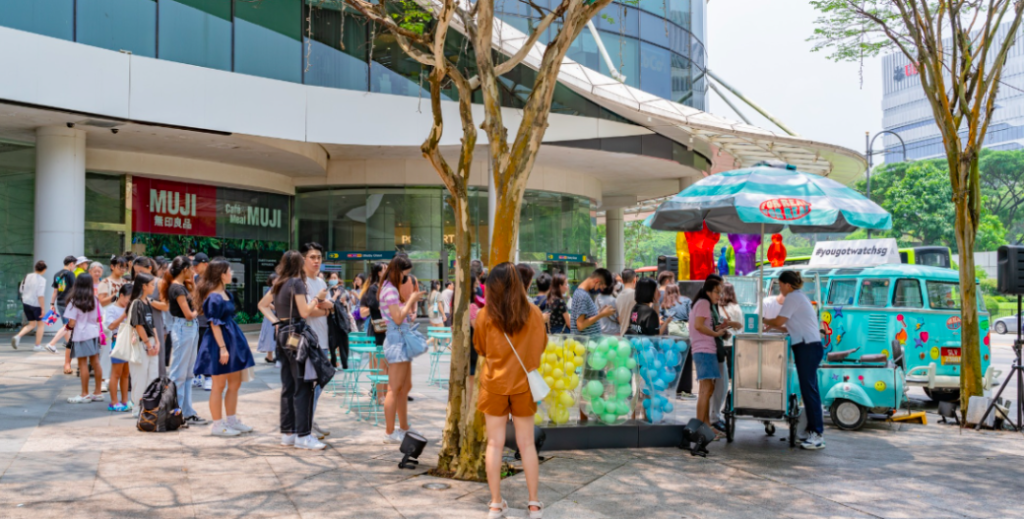
M300 0L234 2L234 72L302 81Z

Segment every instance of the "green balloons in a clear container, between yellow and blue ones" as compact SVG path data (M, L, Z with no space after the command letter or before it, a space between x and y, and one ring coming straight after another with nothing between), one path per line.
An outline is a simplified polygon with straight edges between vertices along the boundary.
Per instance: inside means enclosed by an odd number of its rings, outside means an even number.
M587 343L582 398L588 415L602 424L623 423L633 413L636 400L634 375L637 361L630 341L599 337Z

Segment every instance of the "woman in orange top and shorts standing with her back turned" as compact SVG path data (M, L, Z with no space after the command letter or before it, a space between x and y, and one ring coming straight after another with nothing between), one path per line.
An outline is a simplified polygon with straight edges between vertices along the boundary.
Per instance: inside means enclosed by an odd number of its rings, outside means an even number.
M540 468L534 446L537 402L530 393L526 373L540 367L541 355L548 342L544 315L540 308L529 304L522 277L512 263L501 263L490 270L486 293L487 305L476 316L473 348L484 357L476 408L483 414L487 428L486 471L490 488L487 517L505 517L508 511L508 503L502 499L501 466L505 425L512 415L515 439L526 473L527 510L531 519L538 519L542 517L544 505L538 499Z

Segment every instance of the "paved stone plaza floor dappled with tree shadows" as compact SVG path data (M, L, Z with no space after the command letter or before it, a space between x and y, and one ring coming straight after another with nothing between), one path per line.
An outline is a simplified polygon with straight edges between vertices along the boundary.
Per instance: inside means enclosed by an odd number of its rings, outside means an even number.
M327 449L280 446L281 383L260 357L239 404L256 431L217 438L205 427L141 433L105 403L68 403L79 382L61 374L61 357L0 344L0 518L486 516L485 484L425 475L436 443L419 470L399 470L383 427L346 416L340 396L319 402ZM426 385L425 356L414 370L412 424L437 439L447 392ZM207 418L208 394L196 394ZM693 415L692 402L679 407ZM545 517L570 519L1024 517L1024 436L928 419L828 426L827 448L816 452L790 449L754 422L740 422L735 442L713 443L708 459L676 448L545 451L541 500ZM449 486L424 487L431 482ZM526 517L522 476L502 486L509 516Z

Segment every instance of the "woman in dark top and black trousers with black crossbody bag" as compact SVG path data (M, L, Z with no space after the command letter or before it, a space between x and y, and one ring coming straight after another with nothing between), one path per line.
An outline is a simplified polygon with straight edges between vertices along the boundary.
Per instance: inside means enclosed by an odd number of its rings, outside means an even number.
M305 359L298 355L303 342L315 342L305 318L316 307L316 302L327 297L327 291L306 301L304 262L305 258L298 251L286 252L278 265L278 280L270 289L278 317L274 322L276 356L281 361L281 444L319 450L327 445L311 434L315 381L305 380Z

